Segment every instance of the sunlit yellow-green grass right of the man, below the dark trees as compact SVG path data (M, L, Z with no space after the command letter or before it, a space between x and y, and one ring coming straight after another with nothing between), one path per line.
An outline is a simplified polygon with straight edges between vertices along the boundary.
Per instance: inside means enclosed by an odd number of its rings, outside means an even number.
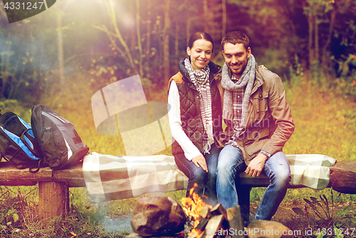
M305 77L294 77L285 85L295 131L284 146L284 153L317 153L339 161L354 161L355 102L340 97L335 90L325 92L320 84ZM327 81L325 87L332 85Z

